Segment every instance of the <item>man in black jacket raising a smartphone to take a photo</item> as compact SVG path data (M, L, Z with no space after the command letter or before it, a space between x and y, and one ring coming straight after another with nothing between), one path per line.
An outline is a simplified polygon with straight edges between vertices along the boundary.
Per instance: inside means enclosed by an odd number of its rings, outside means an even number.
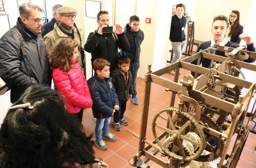
M84 49L92 54L92 62L98 58L109 61L110 72L112 72L117 66L117 58L119 57L118 47L128 51L131 46L119 24L115 24L116 31L113 31L110 37L102 37L102 29L107 27L109 22L109 12L100 11L97 14L98 29L89 34Z

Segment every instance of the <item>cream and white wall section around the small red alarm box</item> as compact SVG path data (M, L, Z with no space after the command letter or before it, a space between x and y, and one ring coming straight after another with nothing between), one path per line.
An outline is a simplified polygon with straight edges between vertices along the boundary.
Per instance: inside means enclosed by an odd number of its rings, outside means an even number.
M144 78L148 63L152 64L153 71L166 66L172 7L173 1L141 0L137 3L137 15L144 32L139 77ZM145 18L151 18L151 23L145 23Z

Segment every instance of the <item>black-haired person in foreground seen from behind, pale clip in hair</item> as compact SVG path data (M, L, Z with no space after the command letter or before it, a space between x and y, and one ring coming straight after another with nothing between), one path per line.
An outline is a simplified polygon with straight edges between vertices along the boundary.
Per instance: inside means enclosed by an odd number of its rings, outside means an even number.
M0 167L108 167L57 91L31 86L0 129Z

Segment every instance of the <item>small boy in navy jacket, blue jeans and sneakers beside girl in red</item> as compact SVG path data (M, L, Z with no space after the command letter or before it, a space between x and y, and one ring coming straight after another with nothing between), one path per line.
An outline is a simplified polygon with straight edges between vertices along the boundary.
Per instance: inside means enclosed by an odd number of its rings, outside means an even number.
M102 138L108 139L110 142L116 141L114 135L109 133L109 124L115 110L119 110L119 103L116 90L111 82L110 63L104 59L96 59L93 61L93 70L97 75L88 80L88 85L93 100L93 116L97 119L95 144L101 150L106 150L108 147Z

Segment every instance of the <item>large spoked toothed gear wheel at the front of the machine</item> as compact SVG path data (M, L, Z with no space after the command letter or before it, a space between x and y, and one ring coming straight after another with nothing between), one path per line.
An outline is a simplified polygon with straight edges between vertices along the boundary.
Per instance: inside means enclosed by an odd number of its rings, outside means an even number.
M172 119L172 111L176 111L176 114L178 115L178 119L176 121ZM164 120L165 122L169 122L168 128L162 126L164 125ZM177 122L180 122L181 120L183 122L185 120L186 122L181 127L179 127ZM167 123L165 125L167 125ZM193 128L193 131L199 135L199 142L194 141L193 139L190 139L185 136L184 132L187 127ZM162 149L162 152L174 159L185 161L194 160L202 154L206 145L205 135L203 133L202 128L199 125L199 122L185 111L180 111L178 108L175 107L164 107L157 111L152 120L152 131L155 137L155 141L157 142L158 146ZM164 139L165 141L162 140L161 142L161 139L159 139L159 136L157 135L157 133L159 134L159 132L160 134L167 133L169 137L167 139ZM196 147L196 151L190 156L186 156L185 151L183 149L182 141L184 140ZM170 144L177 144L180 150L180 154L176 154L173 151L169 151L168 147L170 146Z

